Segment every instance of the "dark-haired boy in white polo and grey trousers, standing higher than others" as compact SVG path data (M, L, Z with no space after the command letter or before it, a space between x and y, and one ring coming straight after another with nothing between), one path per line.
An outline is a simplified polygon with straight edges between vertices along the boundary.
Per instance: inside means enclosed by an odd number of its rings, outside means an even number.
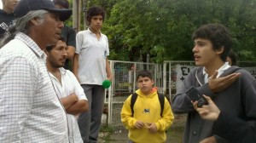
M86 14L89 28L76 36L73 73L79 79L88 98L89 109L79 116L79 129L84 143L96 143L102 121L104 80L112 80L108 62L108 37L101 32L105 10L90 7ZM85 17L84 17L85 18Z

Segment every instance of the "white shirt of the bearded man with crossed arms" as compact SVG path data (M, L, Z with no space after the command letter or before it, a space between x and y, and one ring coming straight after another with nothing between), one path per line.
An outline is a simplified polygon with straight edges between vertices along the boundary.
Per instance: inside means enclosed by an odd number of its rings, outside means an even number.
M73 73L68 70L65 70L62 67L59 68L59 70L61 72L61 83L55 76L53 76L49 72L49 75L55 87L55 91L58 94L59 98L67 97L70 94L76 94L79 97L79 100L87 100L84 94L84 89L81 87L79 81L73 75ZM70 142L83 143L79 131L79 124L74 115L67 114L67 123L69 128Z

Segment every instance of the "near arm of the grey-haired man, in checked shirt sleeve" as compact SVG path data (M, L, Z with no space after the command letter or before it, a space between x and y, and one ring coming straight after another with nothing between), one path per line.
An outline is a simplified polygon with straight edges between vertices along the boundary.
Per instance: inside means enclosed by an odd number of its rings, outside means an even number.
M0 142L20 142L38 75L26 59L0 60Z

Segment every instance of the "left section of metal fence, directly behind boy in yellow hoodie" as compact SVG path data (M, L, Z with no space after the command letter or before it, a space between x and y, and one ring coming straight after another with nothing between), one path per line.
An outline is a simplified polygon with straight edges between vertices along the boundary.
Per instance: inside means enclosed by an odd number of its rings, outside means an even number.
M137 90L137 72L148 70L152 72L154 86L162 87L161 71L158 64L110 60L110 67L113 74L112 86L108 89L105 103L108 103L108 124L115 126L122 125L120 112L127 97Z

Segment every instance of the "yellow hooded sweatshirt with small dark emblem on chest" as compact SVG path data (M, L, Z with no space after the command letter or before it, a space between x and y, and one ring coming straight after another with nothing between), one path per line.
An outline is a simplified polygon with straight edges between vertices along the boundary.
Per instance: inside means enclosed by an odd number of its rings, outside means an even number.
M121 111L121 121L125 128L129 130L128 137L135 143L163 143L166 142L166 129L169 129L173 123L174 116L170 103L165 98L165 106L160 116L161 107L157 95L157 89L152 89L151 94L144 95L140 89L137 89L137 100L133 106L134 114L131 117L131 95L125 100ZM135 123L155 123L156 133L150 133L148 129L137 129Z

